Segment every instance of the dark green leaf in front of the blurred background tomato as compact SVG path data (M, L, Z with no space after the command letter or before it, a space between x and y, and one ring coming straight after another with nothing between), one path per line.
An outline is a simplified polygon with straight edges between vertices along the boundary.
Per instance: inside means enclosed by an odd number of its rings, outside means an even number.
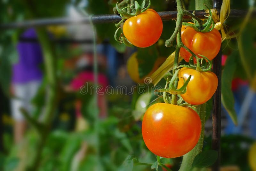
M137 60L139 63L140 78L143 78L152 71L156 58L157 49L155 44L148 48L138 48Z

